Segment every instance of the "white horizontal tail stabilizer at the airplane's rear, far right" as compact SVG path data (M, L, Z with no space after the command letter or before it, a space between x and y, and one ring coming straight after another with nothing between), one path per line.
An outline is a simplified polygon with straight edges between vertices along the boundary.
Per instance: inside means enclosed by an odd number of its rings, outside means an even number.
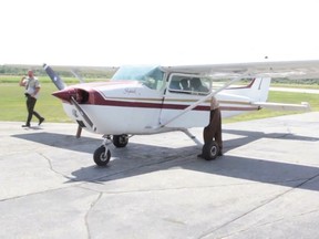
M301 102L301 104L284 104L272 102L254 102L251 105L259 106L260 108L269 108L274 111L310 111L310 104L308 102Z

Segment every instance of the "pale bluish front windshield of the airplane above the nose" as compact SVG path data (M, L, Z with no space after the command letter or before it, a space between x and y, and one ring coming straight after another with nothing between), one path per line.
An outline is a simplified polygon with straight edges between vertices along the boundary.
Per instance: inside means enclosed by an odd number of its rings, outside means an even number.
M163 85L164 72L160 66L121 66L111 81L133 80L150 89L158 90Z

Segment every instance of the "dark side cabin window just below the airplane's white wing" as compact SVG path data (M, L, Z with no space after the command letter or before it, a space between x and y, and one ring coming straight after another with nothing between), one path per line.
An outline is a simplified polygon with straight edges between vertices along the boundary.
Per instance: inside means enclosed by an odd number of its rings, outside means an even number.
M168 85L168 91L184 94L208 94L210 81L198 76L173 75Z

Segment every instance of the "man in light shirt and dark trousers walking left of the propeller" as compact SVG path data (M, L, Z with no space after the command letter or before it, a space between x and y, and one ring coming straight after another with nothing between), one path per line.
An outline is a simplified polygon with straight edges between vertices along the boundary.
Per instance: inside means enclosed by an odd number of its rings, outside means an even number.
M31 119L34 115L39 119L39 124L41 125L44 121L44 117L42 117L39 113L34 111L34 106L37 103L37 98L40 91L40 83L38 77L34 76L33 71L28 71L28 76L23 76L20 80L19 83L20 86L25 87L25 97L27 97L27 110L28 110L28 118L25 125L22 125L22 127L30 127L31 126Z

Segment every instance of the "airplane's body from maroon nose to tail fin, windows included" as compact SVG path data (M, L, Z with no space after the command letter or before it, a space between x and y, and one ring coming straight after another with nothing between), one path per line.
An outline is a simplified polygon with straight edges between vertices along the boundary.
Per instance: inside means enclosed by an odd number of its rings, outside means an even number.
M245 86L219 87L215 96L222 116L259 110L253 103L267 100L269 84L270 79L255 79ZM161 66L123 66L109 82L78 84L53 95L63 101L66 114L90 132L156 134L206 126L212 96L217 92L213 86L205 75Z

